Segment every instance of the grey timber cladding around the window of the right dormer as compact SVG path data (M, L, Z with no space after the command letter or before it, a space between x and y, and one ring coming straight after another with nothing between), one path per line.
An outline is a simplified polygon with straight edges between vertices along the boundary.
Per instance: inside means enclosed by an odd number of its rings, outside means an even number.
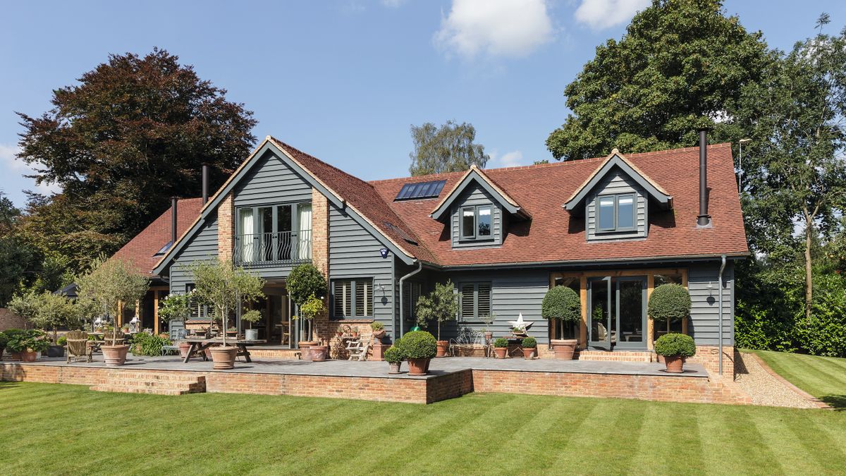
M637 208L635 210L636 230L596 233L596 196L633 192L637 200ZM596 185L596 189L591 191L591 194L586 200L586 207L585 230L587 230L588 241L616 240L620 238L645 238L645 236L649 233L645 191L628 175L624 174L618 167L614 167L612 171L608 173L598 185Z

